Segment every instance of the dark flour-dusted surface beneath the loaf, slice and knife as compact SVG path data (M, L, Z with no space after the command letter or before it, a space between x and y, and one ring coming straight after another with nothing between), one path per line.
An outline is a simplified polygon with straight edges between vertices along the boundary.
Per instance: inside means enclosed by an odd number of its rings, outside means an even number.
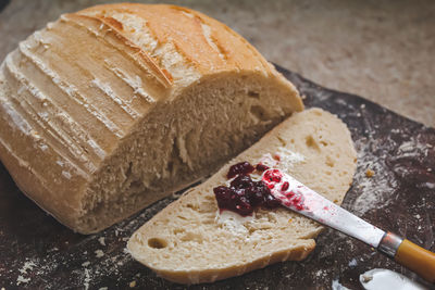
M435 251L435 129L360 97L332 91L297 74L282 72L306 96L307 108L320 106L337 114L350 128L359 161L343 206ZM368 168L375 172L371 178L365 176ZM99 235L80 236L22 194L1 166L0 288L123 289L129 288L132 281L140 289L185 288L157 277L123 252L126 238L174 199L159 201ZM362 242L334 230L326 229L316 242L315 251L303 262L278 263L190 288L331 289L333 280L338 280L359 289L359 275L376 267L423 282Z

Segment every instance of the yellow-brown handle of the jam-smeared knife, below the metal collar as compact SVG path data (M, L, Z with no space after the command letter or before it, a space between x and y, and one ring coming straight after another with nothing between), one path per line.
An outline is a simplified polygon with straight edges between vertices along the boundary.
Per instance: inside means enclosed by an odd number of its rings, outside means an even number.
M430 282L435 282L435 253L405 239L395 260Z

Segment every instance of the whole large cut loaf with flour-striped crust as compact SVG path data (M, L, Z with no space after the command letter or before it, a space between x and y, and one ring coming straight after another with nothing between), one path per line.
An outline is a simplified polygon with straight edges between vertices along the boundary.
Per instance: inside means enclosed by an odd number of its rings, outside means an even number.
M303 109L244 38L199 12L110 4L64 14L0 67L0 157L83 234L217 169Z

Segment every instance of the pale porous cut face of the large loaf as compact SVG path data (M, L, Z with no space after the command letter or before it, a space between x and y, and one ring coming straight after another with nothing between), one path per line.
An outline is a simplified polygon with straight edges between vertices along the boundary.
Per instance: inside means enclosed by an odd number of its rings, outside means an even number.
M89 211L80 224L101 227L107 219L110 226L187 187L258 140L288 114L285 111L291 112L279 104L283 99L276 96L285 94L277 88L253 75L244 80L236 75L204 80L171 105L154 108L102 167L110 169L90 182ZM244 93L253 88L261 100ZM105 202L100 200L104 197Z

